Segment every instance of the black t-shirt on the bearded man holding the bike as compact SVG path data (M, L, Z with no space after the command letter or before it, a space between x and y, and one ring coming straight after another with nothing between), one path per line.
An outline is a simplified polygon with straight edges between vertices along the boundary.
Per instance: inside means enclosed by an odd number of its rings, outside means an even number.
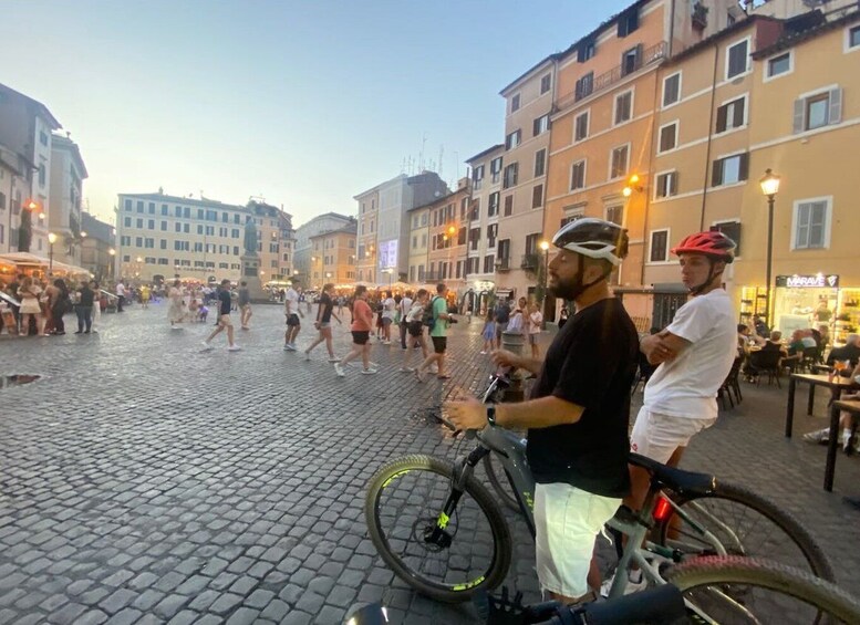
M529 429L535 480L564 482L603 497L630 491L630 387L639 335L614 298L571 316L547 351L531 398L553 395L584 408L576 424Z

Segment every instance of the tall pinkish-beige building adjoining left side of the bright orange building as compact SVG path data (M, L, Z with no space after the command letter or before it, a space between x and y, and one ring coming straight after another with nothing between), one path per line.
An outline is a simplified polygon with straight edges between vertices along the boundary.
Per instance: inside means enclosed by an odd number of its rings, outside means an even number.
M505 152L497 160L502 169L495 270L496 295L501 298L533 294L538 280L557 61L556 54L543 59L500 92L506 100ZM480 267L485 274L489 256Z

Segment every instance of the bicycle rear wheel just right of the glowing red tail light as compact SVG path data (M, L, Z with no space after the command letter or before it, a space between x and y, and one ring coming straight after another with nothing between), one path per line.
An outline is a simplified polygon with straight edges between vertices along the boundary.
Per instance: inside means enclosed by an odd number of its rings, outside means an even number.
M719 555L696 528L709 531L728 555L764 558L812 573L832 582L836 577L821 548L788 512L746 488L718 482L706 496L675 496L682 514L673 513L660 528L661 544L680 550L684 558Z

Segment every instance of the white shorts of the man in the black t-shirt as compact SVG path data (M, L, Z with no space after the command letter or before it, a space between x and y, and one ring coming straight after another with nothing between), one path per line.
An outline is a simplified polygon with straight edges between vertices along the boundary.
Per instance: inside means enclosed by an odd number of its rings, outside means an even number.
M567 483L536 485L535 552L543 592L571 598L588 593L594 540L619 506L621 499Z

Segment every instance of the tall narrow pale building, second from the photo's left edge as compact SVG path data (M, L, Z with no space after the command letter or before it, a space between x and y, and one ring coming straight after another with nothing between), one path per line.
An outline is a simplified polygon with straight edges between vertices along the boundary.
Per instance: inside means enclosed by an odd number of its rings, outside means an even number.
M81 248L89 235L82 227L81 202L86 166L77 144L68 136L51 136L51 178L48 230L56 235L54 260L81 264Z

